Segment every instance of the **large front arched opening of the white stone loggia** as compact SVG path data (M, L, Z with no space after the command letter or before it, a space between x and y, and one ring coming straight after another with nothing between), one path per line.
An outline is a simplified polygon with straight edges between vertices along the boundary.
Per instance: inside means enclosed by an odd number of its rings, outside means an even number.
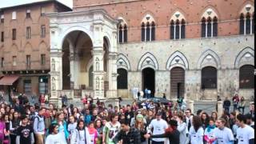
M92 41L88 34L74 30L62 44L62 90L85 90L89 87L86 66L92 58Z

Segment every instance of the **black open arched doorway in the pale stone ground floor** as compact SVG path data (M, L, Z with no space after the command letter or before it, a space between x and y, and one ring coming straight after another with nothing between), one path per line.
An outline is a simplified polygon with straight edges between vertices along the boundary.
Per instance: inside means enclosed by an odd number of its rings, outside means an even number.
M143 91L146 88L151 90L151 95L154 95L154 69L148 67L142 70L142 88Z

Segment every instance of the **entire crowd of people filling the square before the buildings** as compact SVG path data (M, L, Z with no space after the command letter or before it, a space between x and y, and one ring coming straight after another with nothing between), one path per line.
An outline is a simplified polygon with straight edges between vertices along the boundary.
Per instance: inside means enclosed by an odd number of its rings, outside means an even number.
M66 96L63 96L65 98ZM63 99L62 98L62 99ZM72 104L30 104L26 97L0 105L0 144L253 144L254 103L250 111L235 109L193 114L177 106L146 100L144 106L105 106L93 98ZM242 101L242 100L241 100Z

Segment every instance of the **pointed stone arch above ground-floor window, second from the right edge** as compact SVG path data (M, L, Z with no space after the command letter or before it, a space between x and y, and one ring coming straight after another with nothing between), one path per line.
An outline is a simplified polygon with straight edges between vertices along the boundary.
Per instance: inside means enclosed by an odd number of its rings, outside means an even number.
M204 51L198 59L198 70L206 66L213 66L217 69L221 67L221 60L213 50Z

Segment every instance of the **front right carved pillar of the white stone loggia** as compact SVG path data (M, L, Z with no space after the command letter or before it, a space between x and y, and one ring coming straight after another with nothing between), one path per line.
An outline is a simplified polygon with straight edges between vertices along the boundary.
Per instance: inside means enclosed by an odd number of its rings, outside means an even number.
M103 47L94 47L94 98L104 99Z

